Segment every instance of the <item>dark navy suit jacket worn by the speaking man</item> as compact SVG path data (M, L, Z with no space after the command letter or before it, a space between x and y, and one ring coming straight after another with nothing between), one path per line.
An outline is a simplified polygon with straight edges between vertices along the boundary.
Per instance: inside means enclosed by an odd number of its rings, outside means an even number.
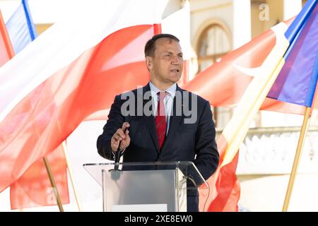
M126 100L122 100L122 95L114 98L114 103L108 115L103 133L98 137L98 153L109 160L113 160L110 140L122 127L124 121L130 123L129 136L131 142L123 154L123 162L156 162L156 161L192 161L201 172L204 179L211 177L218 167L218 150L216 146L216 129L212 119L210 104L207 100L196 95L196 105L192 106L193 93L189 93L188 101L184 98L185 90L177 86L177 92L181 93L183 109L192 109L192 114L196 114L196 121L192 124L184 123L184 119L191 115L182 110L182 114L177 113L176 97L173 101L172 115L170 116L170 126L165 137L165 142L161 150L158 148L158 138L155 131L155 118L151 116L136 115L138 111L151 101L143 100L143 94L150 90L149 84L141 88L142 90L132 90L135 95L134 115L123 116L121 107ZM176 94L177 95L177 94ZM137 98L141 98L141 102ZM140 100L140 99L139 99ZM149 106L149 105L148 105ZM151 105L150 105L151 106ZM197 211L199 206L198 193L188 193L188 211Z

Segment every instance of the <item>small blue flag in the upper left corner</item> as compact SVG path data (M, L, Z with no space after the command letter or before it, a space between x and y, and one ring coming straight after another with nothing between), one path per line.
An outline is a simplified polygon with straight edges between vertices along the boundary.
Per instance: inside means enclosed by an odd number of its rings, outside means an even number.
M15 54L18 54L30 42L35 40L37 32L30 15L28 0L22 0L20 6L6 23Z

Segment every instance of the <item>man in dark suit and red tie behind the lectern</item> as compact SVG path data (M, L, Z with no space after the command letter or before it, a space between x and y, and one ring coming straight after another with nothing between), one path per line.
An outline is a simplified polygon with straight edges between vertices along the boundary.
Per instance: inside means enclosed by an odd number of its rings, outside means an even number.
M114 160L119 149L123 162L192 161L208 179L218 167L216 130L209 102L177 85L183 69L179 40L155 35L145 56L151 81L114 98L98 153ZM198 211L197 192L187 196L187 210Z

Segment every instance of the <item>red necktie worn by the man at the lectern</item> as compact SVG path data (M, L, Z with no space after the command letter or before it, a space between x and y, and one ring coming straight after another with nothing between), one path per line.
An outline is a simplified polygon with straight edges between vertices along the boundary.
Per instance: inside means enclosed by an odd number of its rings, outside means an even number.
M158 92L157 95L159 95L159 101L158 101L158 107L157 107L157 113L155 114L155 129L157 131L158 136L158 144L159 144L159 150L163 146L163 141L165 141L165 131L167 129L167 124L165 121L165 104L163 102L163 99L165 99L165 96L167 95L166 92Z

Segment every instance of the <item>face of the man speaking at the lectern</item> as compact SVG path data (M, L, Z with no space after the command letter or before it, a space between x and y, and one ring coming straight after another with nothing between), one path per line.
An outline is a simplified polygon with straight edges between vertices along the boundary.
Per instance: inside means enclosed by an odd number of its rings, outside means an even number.
M179 81L183 70L179 42L166 37L158 39L155 42L153 57L148 57L146 60L152 79L166 85Z

